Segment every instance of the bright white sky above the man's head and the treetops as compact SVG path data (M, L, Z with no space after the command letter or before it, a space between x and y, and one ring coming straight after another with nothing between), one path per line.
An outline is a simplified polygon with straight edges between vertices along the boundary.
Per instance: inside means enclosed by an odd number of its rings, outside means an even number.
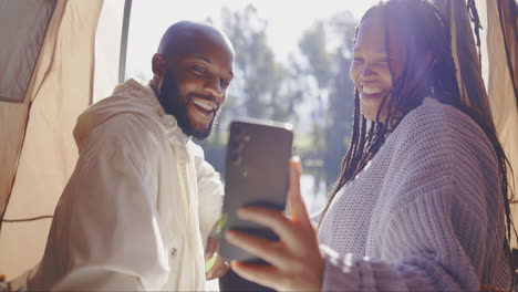
M303 30L315 20L328 18L339 11L350 10L356 19L377 0L134 0L130 22L130 39L126 72L136 72L151 77L151 59L156 52L165 30L179 20L205 21L211 18L220 24L222 7L242 10L252 3L259 17L268 20L269 44L279 61L298 49ZM130 77L127 76L127 77Z

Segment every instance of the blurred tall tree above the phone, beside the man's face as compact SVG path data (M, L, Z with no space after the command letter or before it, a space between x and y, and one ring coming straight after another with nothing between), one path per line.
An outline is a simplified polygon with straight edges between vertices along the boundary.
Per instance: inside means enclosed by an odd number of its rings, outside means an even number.
M286 86L289 79L284 66L276 61L268 44L268 21L248 4L244 11L224 8L222 29L236 49L236 77L231 96L238 98L240 115L288 121L293 114L292 98Z

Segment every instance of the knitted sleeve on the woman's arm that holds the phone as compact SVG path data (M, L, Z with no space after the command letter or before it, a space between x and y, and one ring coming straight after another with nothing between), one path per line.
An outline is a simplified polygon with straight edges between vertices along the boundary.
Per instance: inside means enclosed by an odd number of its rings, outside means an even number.
M371 223L379 258L321 247L323 291L475 291L498 264L505 231L487 137L458 111L411 114Z

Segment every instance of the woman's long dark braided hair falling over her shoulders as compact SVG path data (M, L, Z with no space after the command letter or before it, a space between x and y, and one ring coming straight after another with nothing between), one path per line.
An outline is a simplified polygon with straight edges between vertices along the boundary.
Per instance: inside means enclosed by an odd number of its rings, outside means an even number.
M441 11L425 0L390 0L380 2L369 9L356 27L356 35L362 22L372 17L382 17L385 28L385 48L388 55L388 25L395 25L397 33L406 42L406 62L401 76L394 80L392 90L383 97L376 119L367 121L360 112L360 96L358 88L354 90L354 118L351 145L342 159L340 176L330 192L328 205L320 218L320 225L336 192L351 182L354 177L374 157L384 144L387 135L397 126L401 119L412 109L419 106L427 96L438 100L441 103L449 104L466 113L485 132L497 155L500 174L500 192L505 206L506 239L508 251L511 240L507 167L510 165L504 149L498 142L495 127L490 117L480 111L463 103L456 79L456 67L452 58L449 25L442 17ZM390 23L388 23L390 21ZM410 79L418 70L419 62L426 60L426 54L432 52L433 60L429 69L414 84ZM412 65L414 64L414 65ZM392 72L394 76L394 72ZM390 96L390 98L387 98ZM380 121L382 108L386 106L386 118ZM516 231L515 231L516 232ZM509 257L510 258L510 257ZM512 265L511 265L512 268ZM512 273L514 275L514 273ZM512 281L515 282L515 281Z

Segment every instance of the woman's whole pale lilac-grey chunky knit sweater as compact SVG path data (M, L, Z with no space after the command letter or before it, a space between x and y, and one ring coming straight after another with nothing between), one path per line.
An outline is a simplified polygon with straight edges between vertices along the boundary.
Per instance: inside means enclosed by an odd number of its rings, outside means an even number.
M498 165L478 125L433 98L333 199L319 230L324 291L506 286Z

